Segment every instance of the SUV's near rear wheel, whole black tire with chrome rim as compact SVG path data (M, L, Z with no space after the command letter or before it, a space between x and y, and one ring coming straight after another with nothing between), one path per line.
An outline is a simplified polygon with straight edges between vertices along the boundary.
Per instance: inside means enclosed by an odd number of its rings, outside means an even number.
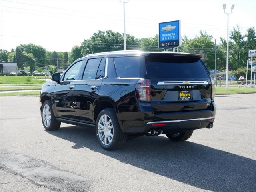
M104 124L105 121L109 124ZM96 121L96 136L100 146L106 150L117 150L124 146L127 134L120 129L114 109L107 108L100 112Z

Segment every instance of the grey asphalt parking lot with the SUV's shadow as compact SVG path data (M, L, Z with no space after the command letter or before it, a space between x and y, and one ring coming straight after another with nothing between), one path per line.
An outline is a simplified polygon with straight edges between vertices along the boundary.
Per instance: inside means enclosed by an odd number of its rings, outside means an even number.
M38 97L0 98L0 191L255 191L256 94L216 96L214 128L103 150L95 130L45 131Z

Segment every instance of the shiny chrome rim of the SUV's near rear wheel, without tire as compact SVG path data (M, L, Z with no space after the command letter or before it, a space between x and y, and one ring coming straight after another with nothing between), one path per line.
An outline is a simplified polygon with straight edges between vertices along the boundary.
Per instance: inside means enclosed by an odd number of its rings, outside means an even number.
M109 145L112 142L114 136L114 127L109 116L102 115L100 117L98 122L98 135L100 141L104 145Z

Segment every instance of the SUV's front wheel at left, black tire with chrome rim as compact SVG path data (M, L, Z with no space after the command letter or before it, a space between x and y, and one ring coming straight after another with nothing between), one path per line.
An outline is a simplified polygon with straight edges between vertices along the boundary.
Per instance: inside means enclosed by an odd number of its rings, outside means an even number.
M48 116L44 116L44 114L48 112L48 114L50 114L50 119L48 119L49 121L45 121L44 117L46 117L46 119L48 118ZM43 126L46 130L48 131L54 131L54 130L58 130L60 128L60 124L61 122L58 122L53 114L53 110L52 110L52 103L50 100L46 100L43 105L42 105L42 110L41 110L41 118L42 118L42 123Z

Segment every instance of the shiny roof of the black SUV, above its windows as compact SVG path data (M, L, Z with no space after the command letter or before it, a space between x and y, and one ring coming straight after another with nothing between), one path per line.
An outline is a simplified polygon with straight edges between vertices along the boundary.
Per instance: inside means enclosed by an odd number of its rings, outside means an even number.
M183 53L183 52L171 52L171 51L159 51L159 52L145 52L139 50L127 50L127 51L111 51L111 52L102 52L102 53L94 53L86 55L85 57L92 57L92 56L101 56L106 55L107 57L112 56L134 56L134 55L144 55L148 56L150 54L170 54L175 56L192 56L201 58L201 55L198 54L191 54L191 53Z

